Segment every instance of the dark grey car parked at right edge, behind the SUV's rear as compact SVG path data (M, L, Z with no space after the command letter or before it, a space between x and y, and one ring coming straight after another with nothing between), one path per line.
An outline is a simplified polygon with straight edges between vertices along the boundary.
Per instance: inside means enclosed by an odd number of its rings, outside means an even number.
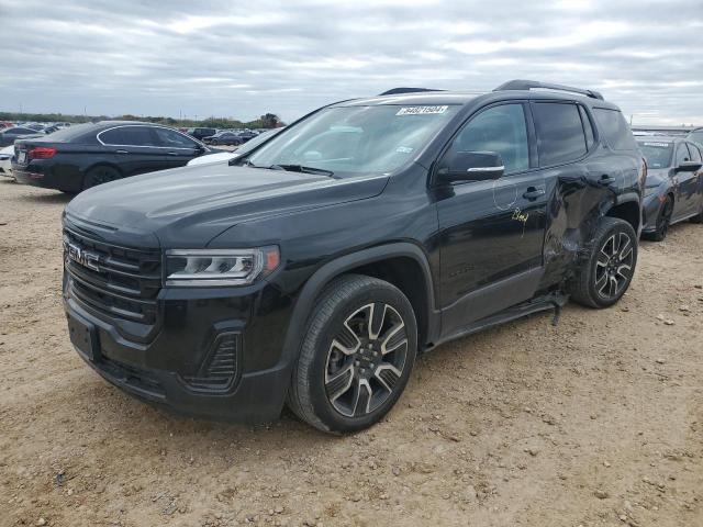
M656 242L669 225L691 218L703 223L703 153L683 137L638 137L647 158L643 235Z

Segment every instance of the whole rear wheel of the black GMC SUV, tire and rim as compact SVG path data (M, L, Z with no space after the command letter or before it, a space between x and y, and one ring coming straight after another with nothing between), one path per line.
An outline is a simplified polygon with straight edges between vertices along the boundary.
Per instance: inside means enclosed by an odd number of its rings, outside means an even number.
M629 288L636 265L637 235L632 225L618 217L603 217L590 244L588 259L574 277L571 298L588 307L610 307Z

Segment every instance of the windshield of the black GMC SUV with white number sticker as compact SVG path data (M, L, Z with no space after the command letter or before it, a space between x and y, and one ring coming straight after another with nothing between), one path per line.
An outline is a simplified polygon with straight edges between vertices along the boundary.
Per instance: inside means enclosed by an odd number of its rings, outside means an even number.
M336 177L390 173L412 159L458 108L328 108L274 137L243 160L264 168L325 170Z

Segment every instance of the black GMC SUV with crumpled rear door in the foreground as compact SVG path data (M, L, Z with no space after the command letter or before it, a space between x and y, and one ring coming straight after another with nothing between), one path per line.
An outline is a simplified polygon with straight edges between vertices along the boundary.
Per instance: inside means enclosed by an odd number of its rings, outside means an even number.
M153 403L245 422L287 403L358 430L393 406L417 354L568 294L617 302L645 177L621 112L589 90L511 81L331 104L228 165L71 201L70 338Z

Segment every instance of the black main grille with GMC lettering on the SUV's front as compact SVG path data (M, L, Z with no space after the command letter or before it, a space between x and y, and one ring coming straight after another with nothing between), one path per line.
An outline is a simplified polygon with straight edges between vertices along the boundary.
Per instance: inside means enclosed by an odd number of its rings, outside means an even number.
M160 251L119 247L68 228L64 229L64 245L72 298L111 318L156 323ZM69 258L69 247L74 256L83 257Z

